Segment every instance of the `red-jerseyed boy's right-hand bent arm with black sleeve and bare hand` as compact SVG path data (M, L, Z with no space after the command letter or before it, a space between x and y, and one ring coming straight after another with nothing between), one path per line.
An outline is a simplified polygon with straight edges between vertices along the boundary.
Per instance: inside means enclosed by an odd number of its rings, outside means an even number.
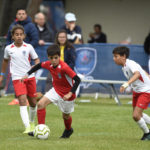
M72 96L72 94L76 92L81 82L80 78L77 75L73 77L73 80L74 80L73 87L71 88L71 91L68 94L64 95L63 97L64 100L68 100Z

